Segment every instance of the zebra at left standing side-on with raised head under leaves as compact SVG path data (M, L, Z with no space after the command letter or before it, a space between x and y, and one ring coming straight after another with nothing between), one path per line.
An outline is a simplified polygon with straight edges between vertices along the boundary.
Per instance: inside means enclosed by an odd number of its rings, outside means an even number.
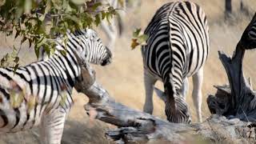
M60 143L66 116L73 104L72 89L81 74L78 60L105 66L111 52L94 30L67 33L54 54L19 67L0 68L0 132L40 126L43 143ZM63 54L61 50L65 50Z

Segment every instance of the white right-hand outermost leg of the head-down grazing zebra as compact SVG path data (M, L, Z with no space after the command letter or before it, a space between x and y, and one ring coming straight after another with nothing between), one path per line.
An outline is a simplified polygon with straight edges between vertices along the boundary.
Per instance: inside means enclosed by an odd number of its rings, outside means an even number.
M198 122L202 122L201 106L202 106L202 80L203 80L203 67L193 75L193 92L192 98L194 106L198 114Z

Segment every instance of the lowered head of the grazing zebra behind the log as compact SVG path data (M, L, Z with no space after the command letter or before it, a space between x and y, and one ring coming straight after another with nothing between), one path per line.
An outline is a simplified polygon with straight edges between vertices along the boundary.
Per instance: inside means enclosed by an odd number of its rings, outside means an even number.
M170 95L168 90L163 92L156 87L154 87L154 91L166 104L165 112L169 122L191 123L188 106L186 105L185 98L180 92L177 91L176 94Z

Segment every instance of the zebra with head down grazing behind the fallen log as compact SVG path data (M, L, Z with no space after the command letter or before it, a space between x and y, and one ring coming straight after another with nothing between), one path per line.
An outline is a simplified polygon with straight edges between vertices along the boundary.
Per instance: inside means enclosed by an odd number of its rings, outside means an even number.
M170 122L190 123L186 105L188 77L193 75L193 101L202 122L203 65L209 53L206 14L193 2L170 2L152 18L142 46L146 102L143 110L152 114L154 83L161 80L166 94L166 117ZM159 90L157 91L159 92Z

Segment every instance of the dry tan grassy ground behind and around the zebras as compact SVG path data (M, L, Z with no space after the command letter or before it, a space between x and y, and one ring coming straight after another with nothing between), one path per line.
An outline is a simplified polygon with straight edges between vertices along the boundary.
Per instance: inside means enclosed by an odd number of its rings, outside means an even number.
M134 0L135 1L135 0ZM144 30L153 17L158 7L170 0L142 0L142 6L136 10L129 10L126 13L125 30L121 38L118 38L114 49L114 61L110 66L94 66L97 74L97 81L114 96L117 102L142 110L144 103L144 85L142 71L142 57L138 49L130 50L130 39L134 28L141 27ZM233 54L233 50L242 35L243 30L250 22L251 15L240 14L240 0L233 0L234 20L224 21L224 0L193 0L206 11L210 25L210 56L204 68L204 82L202 86L202 116L206 119L210 112L206 104L208 94L214 94L214 85L226 84L227 78L221 62L218 60L218 50L223 50L226 54ZM244 0L248 9L254 13L256 2L254 0ZM99 35L106 42L106 37L98 30ZM13 45L18 46L18 40L5 38L0 34L0 57L10 52ZM27 64L36 60L33 48L27 49L22 46L20 58L22 64ZM246 77L252 79L256 84L256 52L247 51L244 60L244 71ZM157 86L162 89L162 83ZM186 96L186 102L190 105L192 119L196 122L196 113L191 98L193 85L190 78L190 90ZM83 109L83 105L88 102L84 94L78 94L74 90L74 106L70 111L66 121L62 143L110 143L104 137L104 131L113 126L98 120L90 120ZM166 118L164 114L164 103L154 94L154 115ZM19 132L16 134L1 134L0 144L5 143L39 143L39 140L30 131ZM37 131L36 129L34 131Z

